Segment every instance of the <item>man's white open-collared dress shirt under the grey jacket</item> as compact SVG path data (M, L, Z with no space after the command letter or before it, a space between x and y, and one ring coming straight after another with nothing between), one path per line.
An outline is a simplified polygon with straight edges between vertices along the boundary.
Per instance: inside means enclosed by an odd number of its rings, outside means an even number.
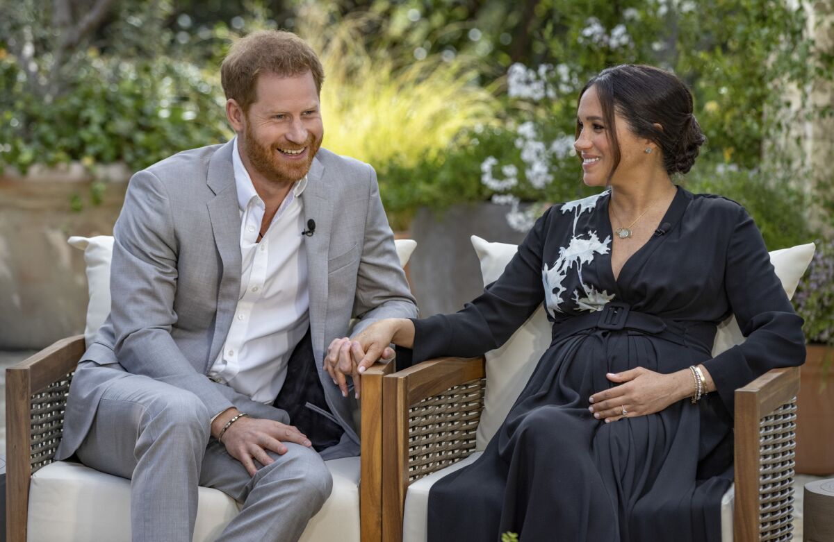
M304 205L307 177L296 181L258 242L264 201L240 159L234 182L240 207L240 296L223 350L208 376L253 400L271 403L287 377L287 361L309 326Z

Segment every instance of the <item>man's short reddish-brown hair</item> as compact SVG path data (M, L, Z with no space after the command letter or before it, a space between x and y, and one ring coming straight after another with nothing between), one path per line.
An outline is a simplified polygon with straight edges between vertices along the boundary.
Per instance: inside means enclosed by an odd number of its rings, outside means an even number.
M320 93L324 68L313 47L293 32L262 30L234 42L220 65L220 82L226 98L234 98L247 111L258 98L255 83L259 74L290 77L308 71Z

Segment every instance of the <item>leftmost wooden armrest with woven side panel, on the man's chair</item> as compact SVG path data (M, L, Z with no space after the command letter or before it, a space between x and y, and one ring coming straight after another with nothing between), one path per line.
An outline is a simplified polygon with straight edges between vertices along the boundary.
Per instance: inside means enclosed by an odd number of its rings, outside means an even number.
M6 538L26 540L29 477L52 463L84 336L68 337L6 370Z

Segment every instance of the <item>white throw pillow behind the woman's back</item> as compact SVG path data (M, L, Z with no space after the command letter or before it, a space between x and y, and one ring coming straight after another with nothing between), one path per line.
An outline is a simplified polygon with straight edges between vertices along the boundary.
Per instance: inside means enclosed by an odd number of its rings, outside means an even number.
M471 241L480 259L484 286L501 276L518 250L515 245L490 243L478 236L472 236ZM776 276L779 277L788 297L792 297L796 285L811 262L811 257L814 256L813 243L772 251L770 254ZM730 316L718 326L712 356L717 356L742 342L744 336L741 335L736 317ZM504 423L515 399L524 389L536 363L548 346L550 322L547 321L544 306L540 306L504 346L486 353L484 411L480 415L475 435L475 450L484 450L495 431Z

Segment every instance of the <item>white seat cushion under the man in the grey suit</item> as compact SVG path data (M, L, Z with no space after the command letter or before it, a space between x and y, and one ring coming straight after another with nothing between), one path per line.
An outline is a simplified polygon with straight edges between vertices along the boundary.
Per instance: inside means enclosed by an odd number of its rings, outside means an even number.
M359 540L359 458L326 461L333 493L301 536L302 542ZM222 491L201 487L194 542L215 540L238 514ZM57 461L29 485L29 542L130 542L130 480L78 463Z

